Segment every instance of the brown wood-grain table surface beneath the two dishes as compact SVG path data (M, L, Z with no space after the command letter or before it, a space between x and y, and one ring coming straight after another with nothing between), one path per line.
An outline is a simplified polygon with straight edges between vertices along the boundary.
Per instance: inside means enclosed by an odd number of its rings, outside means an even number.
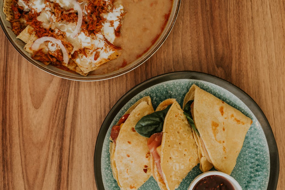
M188 1L168 39L114 79L61 79L28 63L0 32L0 189L96 189L93 154L111 107L135 85L171 71L221 77L266 115L285 187L285 2Z

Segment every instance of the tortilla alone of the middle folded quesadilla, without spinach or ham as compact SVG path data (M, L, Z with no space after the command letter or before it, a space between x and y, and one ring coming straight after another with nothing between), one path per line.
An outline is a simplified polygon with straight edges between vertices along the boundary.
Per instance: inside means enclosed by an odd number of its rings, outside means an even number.
M160 189L174 190L182 179L199 163L193 132L183 110L175 99L160 103L156 111L172 104L163 124L161 146L157 147L163 176L160 176L152 160L152 175Z

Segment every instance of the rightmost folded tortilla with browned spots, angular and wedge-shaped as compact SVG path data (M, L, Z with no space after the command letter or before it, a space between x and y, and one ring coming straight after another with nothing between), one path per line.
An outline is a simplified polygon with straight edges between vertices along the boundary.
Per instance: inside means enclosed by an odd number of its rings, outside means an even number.
M201 152L200 169L205 172L211 164L230 174L243 146L251 119L214 95L192 85L184 98L194 99L192 117L199 134L195 134L198 152Z

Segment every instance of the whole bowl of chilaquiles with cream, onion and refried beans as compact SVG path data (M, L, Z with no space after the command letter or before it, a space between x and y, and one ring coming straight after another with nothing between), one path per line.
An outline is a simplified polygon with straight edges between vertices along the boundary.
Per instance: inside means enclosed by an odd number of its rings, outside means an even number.
M16 50L59 77L126 73L166 40L180 0L4 0L1 27Z

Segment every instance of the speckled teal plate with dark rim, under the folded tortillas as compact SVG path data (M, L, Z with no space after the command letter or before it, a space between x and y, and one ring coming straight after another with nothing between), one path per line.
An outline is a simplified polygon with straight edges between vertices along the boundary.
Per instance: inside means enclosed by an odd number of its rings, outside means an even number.
M175 98L182 106L184 96L192 84L215 95L253 120L231 176L243 189L276 189L279 175L277 145L270 125L255 101L223 79L205 73L181 71L144 81L121 97L111 109L101 126L95 146L94 173L99 190L120 189L111 170L109 136L112 126L125 111L146 95L151 97L154 109L167 98ZM201 173L198 164L183 179L178 189L188 189L192 180ZM159 190L159 187L153 177L150 177L139 189Z

